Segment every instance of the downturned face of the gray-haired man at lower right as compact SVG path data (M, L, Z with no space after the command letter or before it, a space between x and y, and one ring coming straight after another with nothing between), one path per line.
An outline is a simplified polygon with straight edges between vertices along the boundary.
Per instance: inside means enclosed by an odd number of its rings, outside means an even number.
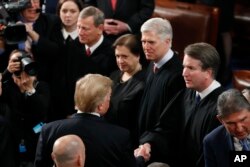
M227 131L239 140L250 134L250 111L244 109L223 118L218 117Z

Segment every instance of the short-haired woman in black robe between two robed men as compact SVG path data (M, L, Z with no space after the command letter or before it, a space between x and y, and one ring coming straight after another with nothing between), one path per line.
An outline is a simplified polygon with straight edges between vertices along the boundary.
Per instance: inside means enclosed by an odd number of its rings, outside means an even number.
M113 47L120 70L110 75L113 87L106 119L130 130L136 147L136 120L145 79L145 72L140 64L140 43L135 35L126 34L119 37Z

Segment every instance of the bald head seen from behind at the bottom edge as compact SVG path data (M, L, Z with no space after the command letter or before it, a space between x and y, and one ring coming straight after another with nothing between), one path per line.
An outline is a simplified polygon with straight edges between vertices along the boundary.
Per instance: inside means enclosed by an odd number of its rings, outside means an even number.
M83 167L85 145L77 135L65 135L55 141L51 156L56 167Z

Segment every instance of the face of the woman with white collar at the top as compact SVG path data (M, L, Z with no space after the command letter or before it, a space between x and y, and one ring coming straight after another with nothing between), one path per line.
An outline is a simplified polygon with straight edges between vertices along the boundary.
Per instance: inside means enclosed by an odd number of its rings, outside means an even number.
M66 1L60 9L60 18L66 30L75 30L80 10L74 1Z

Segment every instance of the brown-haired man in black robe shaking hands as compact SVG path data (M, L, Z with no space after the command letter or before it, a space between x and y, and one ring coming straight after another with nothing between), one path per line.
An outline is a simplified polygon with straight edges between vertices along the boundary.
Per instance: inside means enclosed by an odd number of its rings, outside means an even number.
M177 167L204 166L202 140L220 125L216 103L223 88L215 80L219 62L218 52L209 44L195 43L185 48L182 75L187 89L171 100L154 130L140 141L144 143L141 148L151 151L152 161Z

